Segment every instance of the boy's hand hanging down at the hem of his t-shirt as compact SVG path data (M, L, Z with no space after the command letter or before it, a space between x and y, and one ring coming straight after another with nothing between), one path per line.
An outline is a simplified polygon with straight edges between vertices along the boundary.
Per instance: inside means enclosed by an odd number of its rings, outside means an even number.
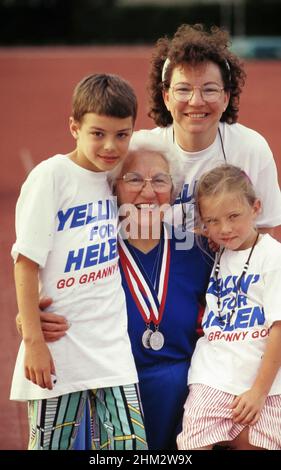
M25 344L24 370L28 380L52 390L51 374L55 375L55 365L44 340Z

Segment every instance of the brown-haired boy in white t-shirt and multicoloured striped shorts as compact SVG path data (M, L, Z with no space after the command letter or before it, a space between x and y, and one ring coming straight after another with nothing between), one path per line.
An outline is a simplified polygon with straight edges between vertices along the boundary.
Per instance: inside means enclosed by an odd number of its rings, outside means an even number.
M75 150L41 162L21 190L12 256L23 343L11 399L28 400L29 449L71 449L86 400L93 448L146 448L106 178L126 157L136 113L123 79L84 78L70 117ZM71 323L57 343L40 327L45 293Z

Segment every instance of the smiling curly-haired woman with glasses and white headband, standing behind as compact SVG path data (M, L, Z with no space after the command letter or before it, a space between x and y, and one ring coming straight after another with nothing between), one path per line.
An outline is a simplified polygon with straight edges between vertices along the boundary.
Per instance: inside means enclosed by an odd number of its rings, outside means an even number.
M201 24L181 25L174 37L160 38L149 75L152 132L173 144L183 164L185 183L176 202L194 202L202 173L223 163L241 167L263 203L259 231L273 233L281 224L277 171L265 139L237 123L245 72L229 49L228 33ZM260 110L262 112L262 110ZM182 219L180 206L175 206Z

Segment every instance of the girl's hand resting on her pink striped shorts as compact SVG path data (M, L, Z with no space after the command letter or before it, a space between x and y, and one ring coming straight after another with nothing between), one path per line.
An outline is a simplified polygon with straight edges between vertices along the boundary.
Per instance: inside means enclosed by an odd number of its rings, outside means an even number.
M247 390L233 400L232 418L234 423L253 426L260 417L266 395L259 393L254 388Z

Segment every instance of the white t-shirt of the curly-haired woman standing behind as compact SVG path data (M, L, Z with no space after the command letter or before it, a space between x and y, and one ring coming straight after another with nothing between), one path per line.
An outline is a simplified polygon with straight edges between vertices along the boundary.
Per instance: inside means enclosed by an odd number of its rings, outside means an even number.
M219 124L225 151L222 150L219 133L210 147L200 152L186 152L174 142L173 126L157 127L151 130L160 135L164 142L174 144L182 164L185 184L181 199L193 204L196 182L212 168L229 163L242 168L251 179L257 197L262 202L262 212L257 219L259 227L275 227L281 224L281 193L278 185L276 165L272 152L258 132L242 124ZM179 202L176 201L176 202ZM182 220L182 209L175 206L175 224ZM169 220L171 222L171 220Z

